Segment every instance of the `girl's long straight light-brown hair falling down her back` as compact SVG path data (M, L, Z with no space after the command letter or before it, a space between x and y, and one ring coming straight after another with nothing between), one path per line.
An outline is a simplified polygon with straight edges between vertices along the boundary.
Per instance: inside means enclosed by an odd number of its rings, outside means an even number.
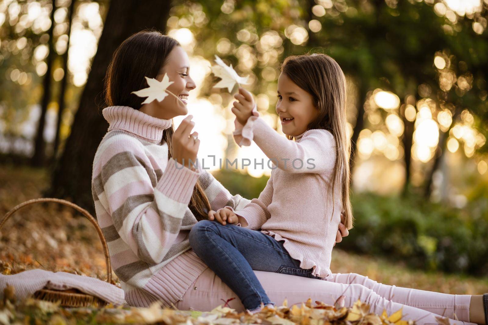
M353 225L349 199L351 143L346 132L346 77L339 64L325 54L287 57L281 66L281 71L297 86L312 95L314 105L319 110L318 118L307 126L307 130L325 129L334 136L336 162L331 184L335 186L338 180L341 182L345 226L351 229ZM292 140L294 137L287 136L287 138ZM332 190L332 200L334 200L334 192Z

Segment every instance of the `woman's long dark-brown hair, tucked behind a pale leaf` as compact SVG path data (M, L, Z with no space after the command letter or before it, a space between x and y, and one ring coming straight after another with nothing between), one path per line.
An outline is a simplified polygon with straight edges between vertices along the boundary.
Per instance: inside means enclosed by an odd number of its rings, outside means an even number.
M144 76L156 78L168 55L180 43L155 30L136 33L122 42L115 51L105 76L105 102L107 106L129 106L139 110L144 98L132 94L146 87ZM168 159L173 147L171 137L174 124L163 132L168 144ZM197 181L191 196L190 210L197 220L207 219L210 202Z

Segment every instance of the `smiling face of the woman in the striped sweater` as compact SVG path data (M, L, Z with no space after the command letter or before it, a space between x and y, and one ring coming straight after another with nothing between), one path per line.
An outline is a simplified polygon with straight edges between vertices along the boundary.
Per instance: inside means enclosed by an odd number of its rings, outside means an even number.
M149 104L142 105L140 111L147 115L163 119L171 119L175 116L188 114L186 102L189 91L195 89L196 85L189 75L190 60L181 46L175 46L171 50L166 63L159 71L156 79L159 81L163 80L165 73L168 75L169 81L173 81L167 90L180 97L184 104L182 101L168 94L161 102L154 100Z

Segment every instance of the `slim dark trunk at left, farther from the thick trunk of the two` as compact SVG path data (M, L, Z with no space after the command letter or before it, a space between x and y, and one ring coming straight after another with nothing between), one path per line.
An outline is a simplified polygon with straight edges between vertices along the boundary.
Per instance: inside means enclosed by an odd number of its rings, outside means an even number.
M34 144L34 155L32 156L31 164L36 167L44 165L45 160L45 142L44 142L44 126L46 122L47 106L49 105L49 99L51 97L51 70L54 61L54 39L53 39L53 29L54 29L54 12L56 11L56 1L52 0L52 10L51 10L51 27L47 32L49 35L48 47L49 54L47 55L47 70L42 82L42 88L44 93L41 99L41 117L39 117L39 124L37 126L35 144Z

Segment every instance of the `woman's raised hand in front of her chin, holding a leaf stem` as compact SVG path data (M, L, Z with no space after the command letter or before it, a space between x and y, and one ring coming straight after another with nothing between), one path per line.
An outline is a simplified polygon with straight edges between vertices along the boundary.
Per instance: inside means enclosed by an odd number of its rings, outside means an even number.
M195 122L191 120L192 118L193 115L186 116L171 137L173 159L188 168L191 167L191 164L189 163L190 159L192 162L196 163L198 148L200 146L200 139L197 138L195 141L193 138L194 136L198 136L198 133L193 132L190 134L195 126Z

